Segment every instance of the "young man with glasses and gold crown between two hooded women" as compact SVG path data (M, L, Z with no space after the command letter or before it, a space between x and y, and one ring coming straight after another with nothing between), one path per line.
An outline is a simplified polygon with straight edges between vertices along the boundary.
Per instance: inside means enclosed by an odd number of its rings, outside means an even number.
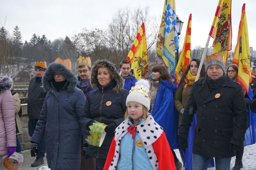
M90 74L91 74L90 57L84 58L80 56L77 60L77 65L78 65L77 73L79 74L77 76L77 87L84 92L84 95L87 98L87 95L89 94L89 92L94 90L90 84Z

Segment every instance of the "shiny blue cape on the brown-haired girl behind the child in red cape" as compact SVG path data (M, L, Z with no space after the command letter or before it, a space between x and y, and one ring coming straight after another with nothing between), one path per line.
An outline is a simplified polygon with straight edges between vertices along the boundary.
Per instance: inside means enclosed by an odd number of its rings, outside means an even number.
M179 147L178 122L179 113L174 107L174 94L176 87L168 81L161 81L158 84L152 116L162 126L171 149Z

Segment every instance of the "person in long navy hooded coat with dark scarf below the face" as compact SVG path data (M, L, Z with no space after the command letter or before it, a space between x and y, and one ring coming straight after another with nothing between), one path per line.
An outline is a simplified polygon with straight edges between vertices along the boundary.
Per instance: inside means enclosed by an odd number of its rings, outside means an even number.
M78 170L81 163L81 125L86 98L76 87L76 76L59 63L52 63L42 78L47 92L40 117L31 138L31 156L46 135L48 167L52 170Z

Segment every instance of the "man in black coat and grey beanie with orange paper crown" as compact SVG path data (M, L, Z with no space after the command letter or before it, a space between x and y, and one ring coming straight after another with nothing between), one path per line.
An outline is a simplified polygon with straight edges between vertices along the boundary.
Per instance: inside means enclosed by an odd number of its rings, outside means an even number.
M193 169L206 170L212 157L216 170L230 169L231 157L243 146L246 131L246 105L241 85L224 73L223 56L206 57L205 78L190 91L178 130L180 146L187 148L187 137L197 114L193 142Z

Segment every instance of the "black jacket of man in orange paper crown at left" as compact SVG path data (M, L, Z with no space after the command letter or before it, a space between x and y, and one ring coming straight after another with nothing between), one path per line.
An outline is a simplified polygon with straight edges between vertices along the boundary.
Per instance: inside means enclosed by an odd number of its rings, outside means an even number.
M39 119L44 98L47 92L44 92L42 78L34 77L30 80L28 86L28 117L29 119Z

